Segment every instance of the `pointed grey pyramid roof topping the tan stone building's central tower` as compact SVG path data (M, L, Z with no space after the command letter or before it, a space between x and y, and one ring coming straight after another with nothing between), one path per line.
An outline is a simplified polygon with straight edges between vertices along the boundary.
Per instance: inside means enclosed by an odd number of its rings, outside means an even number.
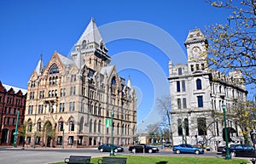
M82 45L83 42L96 42L100 45L102 42L102 36L100 34L100 31L98 30L96 26L95 20L92 18L90 20L89 25L86 27L84 33L79 38L79 41L76 43L76 46Z

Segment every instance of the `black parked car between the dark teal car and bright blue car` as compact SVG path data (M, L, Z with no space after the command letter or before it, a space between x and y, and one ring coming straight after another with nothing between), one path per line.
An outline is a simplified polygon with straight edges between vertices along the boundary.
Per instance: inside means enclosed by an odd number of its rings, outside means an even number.
M157 153L159 149L155 146L151 146L149 144L137 144L129 147L129 151L136 153Z

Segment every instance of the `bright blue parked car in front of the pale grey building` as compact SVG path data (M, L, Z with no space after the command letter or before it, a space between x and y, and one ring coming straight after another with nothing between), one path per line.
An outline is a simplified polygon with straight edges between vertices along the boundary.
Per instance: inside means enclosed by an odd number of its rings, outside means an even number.
M173 152L180 153L195 153L196 155L203 154L204 150L201 148L193 147L191 144L178 144L173 146Z

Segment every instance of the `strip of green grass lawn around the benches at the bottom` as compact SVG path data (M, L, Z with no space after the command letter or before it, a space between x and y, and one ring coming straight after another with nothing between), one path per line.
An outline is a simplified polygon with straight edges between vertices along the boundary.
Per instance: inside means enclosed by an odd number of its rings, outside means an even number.
M116 156L119 157L119 156ZM224 158L216 157L191 157L191 156L122 156L127 157L126 164L240 164L242 161L249 163L248 160L232 159L225 160ZM90 163L96 164L98 159L91 158ZM64 164L58 162L55 164Z

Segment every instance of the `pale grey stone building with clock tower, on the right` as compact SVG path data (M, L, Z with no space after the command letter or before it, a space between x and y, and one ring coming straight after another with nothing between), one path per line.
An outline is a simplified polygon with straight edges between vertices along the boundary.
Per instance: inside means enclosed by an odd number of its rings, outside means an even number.
M189 144L207 143L216 148L223 141L223 109L226 105L227 127L235 142L243 142L233 107L247 99L247 90L241 73L223 72L207 68L207 39L200 30L189 31L184 42L188 64L172 65L169 76L172 105L172 133L174 144L187 141Z

